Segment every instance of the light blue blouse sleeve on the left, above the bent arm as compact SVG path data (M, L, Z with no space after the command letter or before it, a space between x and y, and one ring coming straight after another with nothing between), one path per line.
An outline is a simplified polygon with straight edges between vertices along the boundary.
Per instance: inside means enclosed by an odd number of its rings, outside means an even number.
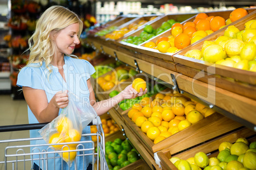
M43 89L39 67L24 67L18 73L17 86Z

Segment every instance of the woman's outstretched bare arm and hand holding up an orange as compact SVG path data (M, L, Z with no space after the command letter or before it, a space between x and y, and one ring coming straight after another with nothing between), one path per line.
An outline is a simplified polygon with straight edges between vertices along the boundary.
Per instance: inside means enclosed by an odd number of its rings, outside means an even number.
M117 105L120 101L124 99L131 99L136 98L137 96L142 96L146 94L147 89L138 93L134 88L132 88L132 84L127 86L123 91L121 91L118 95L114 96L113 98L109 98L108 100L98 101L96 102L94 89L92 88L92 84L90 83L90 79L87 80L87 85L90 91L90 105L96 110L97 115L102 115L112 107Z

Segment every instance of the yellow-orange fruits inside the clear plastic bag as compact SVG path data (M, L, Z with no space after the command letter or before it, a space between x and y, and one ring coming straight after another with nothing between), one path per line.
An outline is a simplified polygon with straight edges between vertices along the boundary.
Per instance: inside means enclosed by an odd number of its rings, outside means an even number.
M63 144L65 142L75 142L81 140L81 132L74 128L73 122L66 116L59 117L55 123L55 128L57 132L50 136L48 143L54 144L52 147L55 148L55 150L76 150L78 143L68 145ZM59 143L61 144L58 145ZM60 153L60 156L66 162L69 160L72 162L75 160L76 152L63 152Z

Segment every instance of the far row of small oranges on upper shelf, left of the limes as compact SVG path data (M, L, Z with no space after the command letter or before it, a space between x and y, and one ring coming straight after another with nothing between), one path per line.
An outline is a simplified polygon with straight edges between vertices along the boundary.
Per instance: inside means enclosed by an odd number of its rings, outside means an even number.
M138 29L139 26L145 24L146 20L140 20L138 23L131 23L128 25L128 27L124 27L122 29L117 29L117 30L114 30L113 32L111 32L110 34L106 34L106 38L109 38L109 39L114 39L114 40L117 40L117 39L120 39L121 37L124 36L124 34L127 34L128 32L132 31L132 30L136 30Z

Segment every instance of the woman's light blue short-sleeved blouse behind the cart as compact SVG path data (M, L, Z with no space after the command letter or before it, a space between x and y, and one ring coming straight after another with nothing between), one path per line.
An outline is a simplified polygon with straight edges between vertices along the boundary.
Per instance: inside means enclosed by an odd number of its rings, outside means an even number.
M90 75L94 74L95 69L94 67L87 62L86 60L80 60L78 58L71 58L69 56L64 56L64 62L65 65L63 66L64 74L66 81L62 78L62 76L59 73L59 69L55 66L50 66L50 69L52 69L52 74L48 74L49 70L45 67L45 62L39 67L39 63L31 63L30 65L27 65L26 67L22 68L18 74L18 80L17 80L17 86L26 86L33 89L43 89L46 93L47 100L50 102L52 97L57 93L58 91L65 91L68 90L72 93L74 93L76 96L80 96L80 101L82 103L89 103L89 89L87 87L87 80L90 78ZM48 76L49 75L49 76ZM31 109L29 106L27 106L28 110L28 116L29 116L29 123L34 124L38 123L38 120L34 116L34 114L31 112ZM59 109L59 114L62 111L62 109ZM87 126L85 129L83 129L84 133L90 133L90 126ZM38 130L31 130L30 131L31 138L38 138L41 137L41 135L38 133ZM83 141L91 141L91 137L82 137ZM45 143L44 140L33 140L31 141L31 145L40 145ZM89 144L85 145L85 148L91 148L92 146ZM36 150L32 151L31 147L31 153L38 152ZM39 147L40 150L43 150L45 147ZM89 152L87 152L89 153ZM81 153L82 154L82 153ZM49 156L49 155L48 155ZM59 155L55 155L59 156ZM38 155L34 156L34 159L38 158ZM68 169L68 164L64 162L62 159L56 159L55 160L55 169L61 169L61 161L63 161L63 169ZM34 161L36 164L39 165L38 161ZM53 160L48 159L48 169L53 169ZM78 159L78 167L82 166L83 164L83 157L79 157ZM87 156L85 157L85 169L89 164L92 164L92 157ZM42 167L42 163L40 163L40 166ZM44 165L45 166L45 165ZM42 169L42 168L41 168ZM74 162L71 166L71 169L75 169ZM78 169L82 169L78 168Z

